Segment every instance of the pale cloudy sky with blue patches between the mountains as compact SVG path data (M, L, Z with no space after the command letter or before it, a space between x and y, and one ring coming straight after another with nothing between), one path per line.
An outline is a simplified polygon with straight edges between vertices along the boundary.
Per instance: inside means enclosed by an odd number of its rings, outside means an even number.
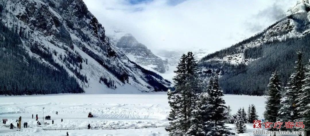
M151 50L223 49L277 20L295 0L83 0L106 29Z

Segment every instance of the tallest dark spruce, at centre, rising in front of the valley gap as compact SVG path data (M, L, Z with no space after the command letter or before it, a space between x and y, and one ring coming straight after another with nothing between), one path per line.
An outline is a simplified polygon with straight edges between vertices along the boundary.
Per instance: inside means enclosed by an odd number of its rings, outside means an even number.
M183 54L175 71L175 91L168 94L171 112L168 116L170 121L169 135L184 135L193 125L191 122L192 111L198 94L201 93L201 81L197 74L197 61L192 52ZM195 113L196 114L196 113Z

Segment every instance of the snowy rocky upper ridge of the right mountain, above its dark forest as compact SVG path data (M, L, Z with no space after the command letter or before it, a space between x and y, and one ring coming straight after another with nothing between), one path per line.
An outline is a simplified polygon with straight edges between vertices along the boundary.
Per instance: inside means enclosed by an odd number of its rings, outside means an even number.
M275 22L268 28L255 34L254 36L245 39L231 47L234 52L226 53L226 56L205 57L201 62L218 61L228 62L229 64L249 64L251 61L259 58L244 58L244 51L248 48L253 48L262 45L266 42L275 40L283 40L288 38L301 38L310 31L310 4L308 0L299 0L296 6L287 11L287 16ZM227 50L227 49L223 49ZM212 54L211 54L212 55Z

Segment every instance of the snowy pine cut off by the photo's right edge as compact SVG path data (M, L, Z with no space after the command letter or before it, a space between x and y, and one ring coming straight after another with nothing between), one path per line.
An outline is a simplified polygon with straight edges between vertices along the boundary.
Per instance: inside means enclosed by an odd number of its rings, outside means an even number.
M310 60L308 65L305 66L305 79L303 80L303 86L298 94L298 115L297 121L303 121L305 131L310 130ZM308 132L307 132L308 133Z

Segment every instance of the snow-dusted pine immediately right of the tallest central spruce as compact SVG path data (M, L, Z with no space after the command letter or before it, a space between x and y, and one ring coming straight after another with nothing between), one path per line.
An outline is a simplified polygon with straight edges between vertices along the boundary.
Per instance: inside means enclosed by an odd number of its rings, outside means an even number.
M215 122L215 131L216 131L215 135L221 135L221 136L233 134L229 131L230 129L228 129L227 126L225 126L224 124L226 120L224 112L227 107L224 105L225 101L223 99L223 96L224 94L219 86L218 77L215 76L213 78L213 86L212 90L210 90L209 92L207 102L210 104L214 112L212 114L212 120Z

